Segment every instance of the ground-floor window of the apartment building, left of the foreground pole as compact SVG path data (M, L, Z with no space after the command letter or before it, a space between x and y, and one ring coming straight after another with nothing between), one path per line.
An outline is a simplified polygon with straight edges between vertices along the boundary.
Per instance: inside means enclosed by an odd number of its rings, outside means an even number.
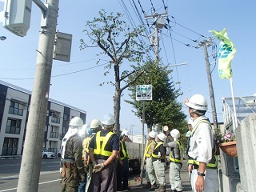
M18 138L5 138L2 146L2 155L15 155L18 150Z

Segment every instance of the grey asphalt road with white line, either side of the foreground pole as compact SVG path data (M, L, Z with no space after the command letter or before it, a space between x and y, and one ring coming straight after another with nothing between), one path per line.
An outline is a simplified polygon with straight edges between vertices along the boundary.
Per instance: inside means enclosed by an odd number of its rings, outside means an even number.
M21 158L0 159L0 192L16 191ZM60 158L42 159L38 192L60 191Z

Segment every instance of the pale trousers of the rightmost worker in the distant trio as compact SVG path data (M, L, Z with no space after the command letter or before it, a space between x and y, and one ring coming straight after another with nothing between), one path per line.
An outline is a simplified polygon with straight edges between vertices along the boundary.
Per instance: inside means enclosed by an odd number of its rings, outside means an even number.
M177 162L170 162L170 186L171 190L182 191L182 179L181 179L182 165Z

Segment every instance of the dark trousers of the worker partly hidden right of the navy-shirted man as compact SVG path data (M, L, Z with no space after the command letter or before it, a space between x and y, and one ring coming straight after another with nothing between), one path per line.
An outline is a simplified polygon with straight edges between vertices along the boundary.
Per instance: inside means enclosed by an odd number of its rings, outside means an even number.
M129 174L129 162L128 158L122 160L122 166L118 162L118 188L127 189L128 188L128 174Z

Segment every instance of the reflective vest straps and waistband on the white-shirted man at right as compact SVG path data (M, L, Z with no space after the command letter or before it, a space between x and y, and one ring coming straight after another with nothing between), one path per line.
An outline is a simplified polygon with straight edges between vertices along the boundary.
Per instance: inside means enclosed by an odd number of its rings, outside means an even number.
M210 122L203 119L201 121L199 121L193 128L193 130L191 131L190 133L190 138L194 135L194 132L195 130L198 129L198 126L201 122L206 122L210 125ZM210 125L211 127L211 125ZM192 162L193 161L193 162ZM194 165L198 165L199 166L199 162L196 161L195 159L190 159L190 162L192 162L191 164L194 164ZM214 149L212 149L212 158L210 159L210 162L207 164L206 167L209 167L209 168L217 168L217 162L218 162L218 157L216 155L216 145L215 145L215 142L214 142Z

